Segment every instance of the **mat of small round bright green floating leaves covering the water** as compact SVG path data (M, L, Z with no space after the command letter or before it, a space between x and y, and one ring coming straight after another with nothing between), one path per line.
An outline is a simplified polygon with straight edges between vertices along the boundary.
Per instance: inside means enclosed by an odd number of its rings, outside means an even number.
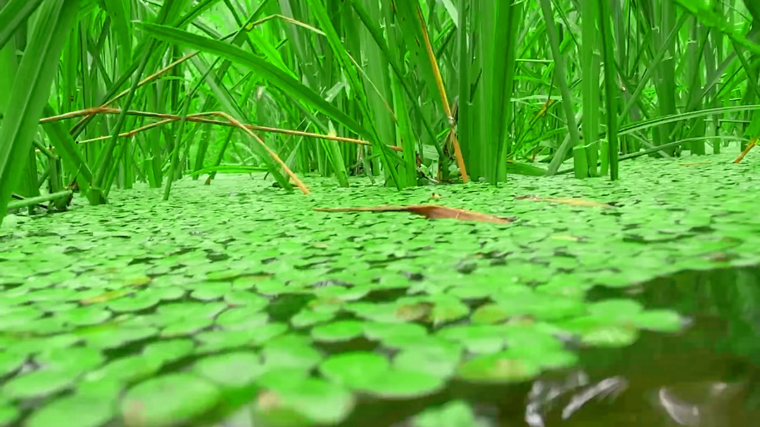
M578 346L678 331L678 312L586 295L760 263L760 167L701 159L626 162L614 183L397 192L307 177L309 196L219 177L181 181L168 202L114 191L107 206L8 218L0 426L204 425L246 404L257 426L335 425L366 399L526 381L573 366ZM516 220L312 210L420 203ZM463 405L414 425L470 419Z

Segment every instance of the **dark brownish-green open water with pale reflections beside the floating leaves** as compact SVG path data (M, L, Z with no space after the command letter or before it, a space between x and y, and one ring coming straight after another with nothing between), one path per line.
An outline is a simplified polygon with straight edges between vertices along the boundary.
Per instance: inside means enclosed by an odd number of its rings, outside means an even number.
M410 416L451 399L499 427L760 426L760 268L682 272L638 287L636 298L677 309L690 325L642 332L629 347L581 350L579 366L530 383L452 383L420 400L366 401L343 426L407 427Z

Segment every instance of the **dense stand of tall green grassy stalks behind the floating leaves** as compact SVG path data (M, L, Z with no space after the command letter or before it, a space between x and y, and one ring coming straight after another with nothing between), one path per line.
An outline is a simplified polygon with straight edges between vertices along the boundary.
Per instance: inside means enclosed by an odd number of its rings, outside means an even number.
M266 171L617 179L758 135L751 0L2 0L0 218Z

